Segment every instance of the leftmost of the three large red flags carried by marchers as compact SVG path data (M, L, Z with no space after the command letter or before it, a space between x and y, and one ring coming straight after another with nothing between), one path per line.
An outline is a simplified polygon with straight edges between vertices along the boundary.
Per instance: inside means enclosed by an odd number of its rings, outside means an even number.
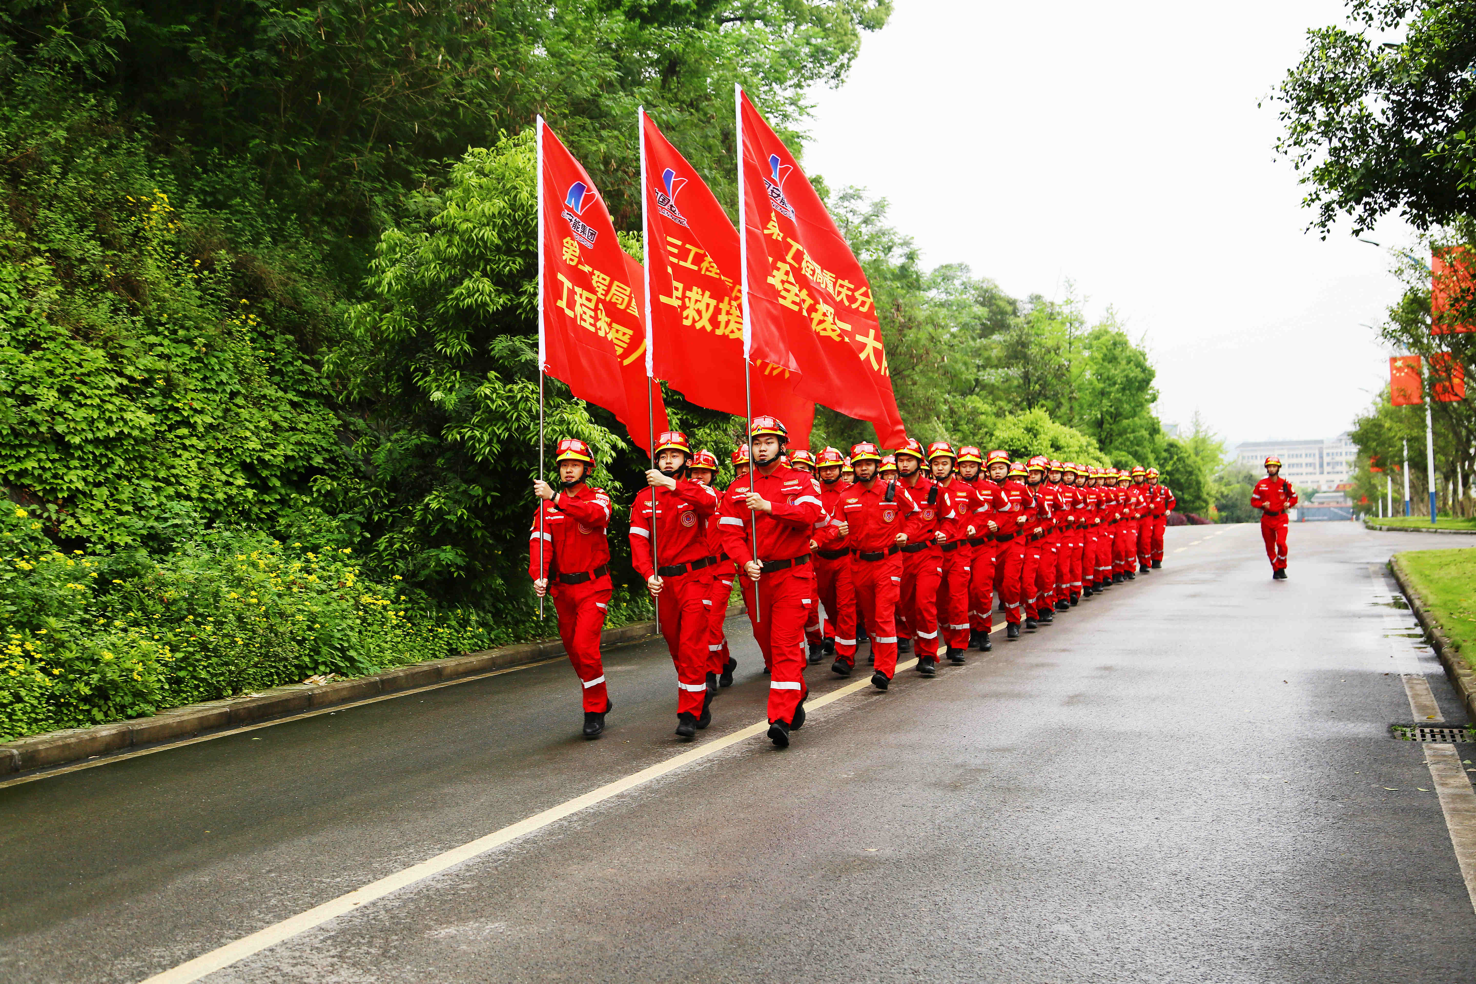
M641 264L620 248L595 183L542 117L539 263L540 367L649 447L648 398L657 432L667 423L661 389L645 372Z

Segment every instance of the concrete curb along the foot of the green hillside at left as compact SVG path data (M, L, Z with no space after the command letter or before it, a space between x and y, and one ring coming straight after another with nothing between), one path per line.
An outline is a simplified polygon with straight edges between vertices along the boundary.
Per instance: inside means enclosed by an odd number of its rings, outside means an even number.
M742 605L732 605L728 608L728 617L732 618L741 611L744 611ZM599 645L618 646L649 639L654 634L654 621L630 623L599 633ZM382 670L351 680L334 680L323 685L291 683L261 693L176 707L152 717L139 717L130 721L31 735L0 745L0 775L63 766L139 745L195 738L204 732L241 727L320 707L415 690L559 655L564 655L564 643L558 639L525 642L500 649L469 652L463 656L413 662L407 667Z

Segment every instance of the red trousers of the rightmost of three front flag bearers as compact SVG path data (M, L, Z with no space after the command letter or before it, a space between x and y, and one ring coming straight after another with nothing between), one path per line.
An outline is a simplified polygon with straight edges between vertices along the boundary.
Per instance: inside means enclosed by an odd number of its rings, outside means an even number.
M754 583L742 578L742 599L748 605L753 637L769 667L769 723L794 723L794 708L804 702L804 627L815 605L815 571L809 564L787 567L765 574L759 581L759 602L754 605ZM754 614L762 618L754 618Z

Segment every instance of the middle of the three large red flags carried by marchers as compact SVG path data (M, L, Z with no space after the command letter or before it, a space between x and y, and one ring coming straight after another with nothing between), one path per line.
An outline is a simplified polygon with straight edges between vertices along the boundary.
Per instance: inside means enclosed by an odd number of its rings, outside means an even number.
M738 230L645 111L639 121L652 375L700 407L747 416ZM754 361L747 385L754 413L784 420L791 447L810 446L815 401L788 369Z

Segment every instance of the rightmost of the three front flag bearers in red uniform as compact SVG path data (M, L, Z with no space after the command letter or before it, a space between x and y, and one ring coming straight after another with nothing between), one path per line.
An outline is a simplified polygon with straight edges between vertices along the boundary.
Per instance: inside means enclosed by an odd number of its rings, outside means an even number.
M804 626L816 605L810 537L830 522L815 479L779 463L787 441L778 417L753 419L748 475L729 487L719 519L723 550L744 575L754 640L772 673L769 741L778 748L788 748L790 732L804 724Z

